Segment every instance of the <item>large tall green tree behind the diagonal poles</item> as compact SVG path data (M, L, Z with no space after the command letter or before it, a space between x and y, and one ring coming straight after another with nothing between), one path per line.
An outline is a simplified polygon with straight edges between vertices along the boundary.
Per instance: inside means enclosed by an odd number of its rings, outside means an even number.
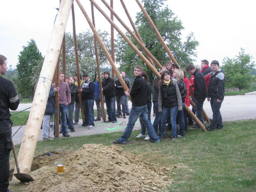
M190 33L184 42L182 41L181 30L184 29L182 22L175 17L175 14L167 6L162 8L165 0L143 0L143 2L145 10L158 28L159 33L165 40L165 44L167 44L179 65L185 68L185 66L191 64L194 61L192 56L196 56L195 49L199 45L193 33ZM169 61L168 54L162 47L162 44L143 13L137 13L135 25L138 28L145 47L155 56L159 63L164 65ZM130 35L127 34L127 36L131 39ZM131 39L131 41L138 46L135 40ZM138 57L135 51L128 46L127 42L120 35L118 36L115 47L116 60L120 63L121 70L131 75L136 64L143 65L143 70L147 72L150 81L153 81L154 74L145 66L141 58Z

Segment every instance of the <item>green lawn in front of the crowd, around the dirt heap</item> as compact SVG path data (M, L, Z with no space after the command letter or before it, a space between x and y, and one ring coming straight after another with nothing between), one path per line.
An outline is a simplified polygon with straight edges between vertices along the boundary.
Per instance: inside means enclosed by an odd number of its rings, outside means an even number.
M177 166L169 175L173 179L169 192L255 192L256 120L226 122L224 126L207 132L189 129L183 138L172 142L165 138L154 144L135 138L139 131L132 131L128 144L119 146L147 162ZM121 134L39 141L35 155L73 152L88 143L112 145Z

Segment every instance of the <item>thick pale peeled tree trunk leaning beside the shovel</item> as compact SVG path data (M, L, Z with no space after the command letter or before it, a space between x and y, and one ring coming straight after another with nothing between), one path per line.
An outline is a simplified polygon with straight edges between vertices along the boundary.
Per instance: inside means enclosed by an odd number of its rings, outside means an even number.
M30 110L30 115L18 155L20 172L22 173L30 172L72 2L73 0L61 1L47 52L44 57L44 63L40 72L32 108Z

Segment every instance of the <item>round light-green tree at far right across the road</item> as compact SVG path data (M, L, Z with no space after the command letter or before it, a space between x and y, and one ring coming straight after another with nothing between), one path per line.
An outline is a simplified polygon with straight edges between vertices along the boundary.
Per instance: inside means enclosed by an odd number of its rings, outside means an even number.
M241 48L239 55L235 58L225 57L223 59L222 70L225 72L226 77L226 88L238 88L246 89L249 88L253 76L254 61L249 54L245 54L244 49Z

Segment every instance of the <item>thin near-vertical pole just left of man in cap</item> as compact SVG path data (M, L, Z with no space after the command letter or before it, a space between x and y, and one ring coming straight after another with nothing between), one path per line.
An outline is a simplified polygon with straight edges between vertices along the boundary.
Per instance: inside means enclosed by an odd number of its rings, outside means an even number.
M74 15L74 3L72 4L71 10L72 10L73 38L74 38L76 67L77 67L77 86L78 86L78 89L81 89L79 57L78 57L78 49L77 49L76 22L75 22L75 15ZM78 98L79 98L79 106L81 109L82 121L84 123L84 109L83 109L82 94L78 94Z

